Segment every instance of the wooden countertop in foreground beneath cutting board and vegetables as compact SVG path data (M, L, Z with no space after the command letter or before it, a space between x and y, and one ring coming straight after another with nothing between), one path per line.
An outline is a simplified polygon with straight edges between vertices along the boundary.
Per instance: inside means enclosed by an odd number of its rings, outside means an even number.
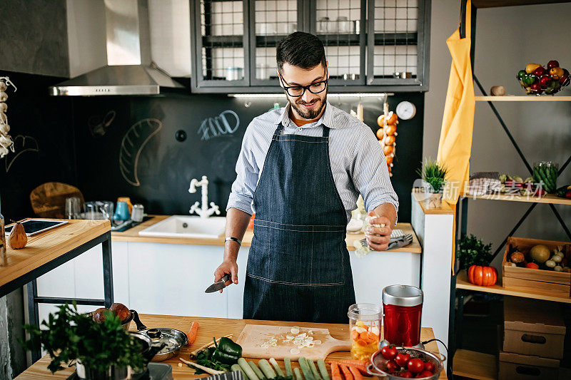
M146 324L146 327L170 327L172 329L178 329L183 332L187 332L191 326L192 321L198 321L200 324L200 329L198 329L198 338L196 342L190 347L183 347L179 356L183 359L188 359L189 354L194 349L197 349L203 344L211 342L213 337L221 337L227 334L233 334L232 339L236 340L240 336L242 329L246 324L273 324L278 326L300 326L300 327L321 327L329 329L331 336L336 339L348 339L348 324L319 324L319 323L301 323L301 322L272 322L272 321L253 321L248 319L222 319L222 318L193 318L193 317L177 317L172 315L152 315L152 314L141 314L141 321ZM131 324L131 329L134 328L134 324ZM428 339L433 339L434 333L433 329L428 327L423 327L420 331L420 339L423 341ZM426 345L428 351L438 352L438 346L436 342L430 342ZM194 369L189 368L186 364L182 367L178 366L181 361L178 360L179 356L175 356L171 359L163 361L163 363L168 363L173 366L173 378L174 379L200 379L201 377L206 377L208 374L195 375ZM348 351L339 351L330 354L327 357L328 360L339 360L339 359L350 359L350 354ZM67 379L74 369L66 368L62 371L56 372L52 375L48 369L47 365L49 363L49 356L44 356L34 365L26 369L20 376L16 377L19 380L36 380L36 379ZM278 361L281 368L283 369L283 361ZM292 362L292 366L295 368L299 366L297 362ZM330 371L330 366L328 366L328 371ZM285 370L284 370L285 372ZM446 374L443 371L440 374L439 379L446 379Z

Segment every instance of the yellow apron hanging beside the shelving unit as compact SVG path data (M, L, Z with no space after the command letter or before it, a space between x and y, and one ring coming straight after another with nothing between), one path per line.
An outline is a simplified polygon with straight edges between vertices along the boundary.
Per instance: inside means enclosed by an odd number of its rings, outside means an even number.
M472 4L466 3L466 36L460 38L460 29L446 40L452 65L448 79L448 92L438 143L438 161L448 168L447 185L443 199L451 205L458 202L458 196L470 175L470 151L472 150L472 130L474 126L474 83L470 65L470 34L472 32ZM454 219L456 215L454 215ZM454 229L455 230L455 229ZM453 230L453 231L454 231ZM453 232L454 234L454 232ZM453 260L455 236L453 236Z

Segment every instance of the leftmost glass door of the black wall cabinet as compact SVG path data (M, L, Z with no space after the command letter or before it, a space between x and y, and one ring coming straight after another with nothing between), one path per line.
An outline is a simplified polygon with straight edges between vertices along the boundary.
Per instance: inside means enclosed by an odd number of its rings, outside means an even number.
M248 1L195 0L198 87L248 86Z

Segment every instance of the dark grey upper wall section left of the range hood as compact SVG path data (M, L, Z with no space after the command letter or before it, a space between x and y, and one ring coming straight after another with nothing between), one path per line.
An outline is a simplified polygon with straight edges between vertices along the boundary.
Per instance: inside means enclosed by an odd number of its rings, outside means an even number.
M69 76L65 0L0 0L1 68Z

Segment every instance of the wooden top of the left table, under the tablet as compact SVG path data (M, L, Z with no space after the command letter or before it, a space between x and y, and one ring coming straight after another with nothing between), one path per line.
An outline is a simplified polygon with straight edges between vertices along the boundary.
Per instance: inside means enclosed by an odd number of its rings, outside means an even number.
M69 220L66 225L28 237L26 247L21 250L6 247L6 263L0 267L0 287L110 230L108 220Z

